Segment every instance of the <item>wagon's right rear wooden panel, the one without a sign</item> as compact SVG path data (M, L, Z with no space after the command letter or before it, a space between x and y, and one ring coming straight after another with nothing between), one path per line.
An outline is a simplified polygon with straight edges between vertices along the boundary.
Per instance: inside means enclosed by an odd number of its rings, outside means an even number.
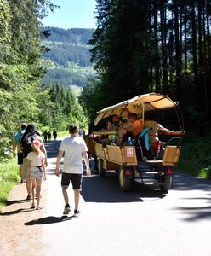
M180 157L180 147L167 146L163 156L163 166L175 166Z

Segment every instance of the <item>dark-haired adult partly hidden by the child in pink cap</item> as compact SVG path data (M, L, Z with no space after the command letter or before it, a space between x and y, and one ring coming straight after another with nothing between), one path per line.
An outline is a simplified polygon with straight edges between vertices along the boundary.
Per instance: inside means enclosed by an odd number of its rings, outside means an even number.
M22 148L23 152L23 178L26 179L26 190L27 190L27 197L26 200L31 200L31 178L27 177L27 155L33 151L32 149L32 142L34 140L38 140L41 145L41 151L45 154L45 166L47 166L47 152L43 143L43 139L37 131L36 126L33 123L30 123L26 127L26 131L20 139L20 147Z

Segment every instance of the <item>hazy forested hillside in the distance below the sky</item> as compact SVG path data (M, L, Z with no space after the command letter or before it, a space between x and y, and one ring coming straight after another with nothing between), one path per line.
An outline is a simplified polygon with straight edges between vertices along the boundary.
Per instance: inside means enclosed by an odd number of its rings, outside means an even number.
M44 76L43 84L62 84L83 86L88 76L94 75L90 63L88 40L92 38L94 29L44 26L41 31L50 30L50 36L43 38L45 49L43 53L48 73Z

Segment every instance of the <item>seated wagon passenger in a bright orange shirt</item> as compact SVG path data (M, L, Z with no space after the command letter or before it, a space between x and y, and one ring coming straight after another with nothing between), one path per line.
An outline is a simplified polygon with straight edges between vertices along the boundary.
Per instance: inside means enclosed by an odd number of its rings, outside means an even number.
M127 120L128 123L119 129L119 145L122 145L124 138L136 137L143 129L142 122L136 113L128 113Z

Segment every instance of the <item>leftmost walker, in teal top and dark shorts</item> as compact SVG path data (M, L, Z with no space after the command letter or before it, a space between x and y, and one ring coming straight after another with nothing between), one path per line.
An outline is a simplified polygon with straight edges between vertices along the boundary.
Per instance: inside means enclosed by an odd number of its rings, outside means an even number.
M20 126L20 131L18 131L15 135L14 135L14 139L13 139L13 155L14 157L18 157L18 165L19 165L19 175L20 175L20 183L23 183L23 153L21 151L20 148L20 137L22 137L22 135L25 133L26 131L26 127L27 125L25 123L21 124ZM17 151L17 154L16 154Z

